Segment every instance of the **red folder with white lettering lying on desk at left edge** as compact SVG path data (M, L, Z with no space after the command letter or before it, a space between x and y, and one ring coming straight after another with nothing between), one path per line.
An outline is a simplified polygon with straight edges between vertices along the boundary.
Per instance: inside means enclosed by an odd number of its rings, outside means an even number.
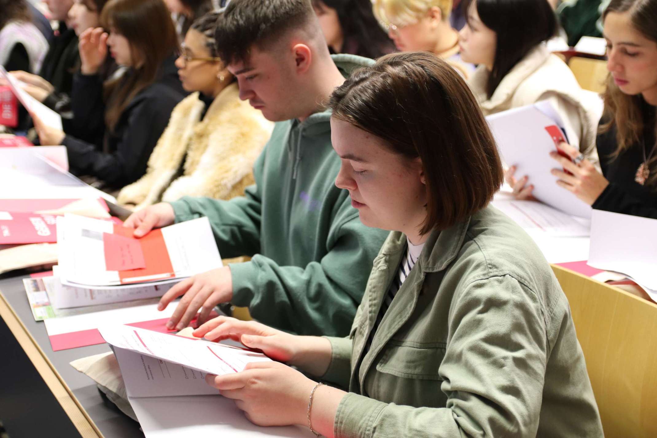
M0 245L55 243L56 222L50 214L0 211Z

